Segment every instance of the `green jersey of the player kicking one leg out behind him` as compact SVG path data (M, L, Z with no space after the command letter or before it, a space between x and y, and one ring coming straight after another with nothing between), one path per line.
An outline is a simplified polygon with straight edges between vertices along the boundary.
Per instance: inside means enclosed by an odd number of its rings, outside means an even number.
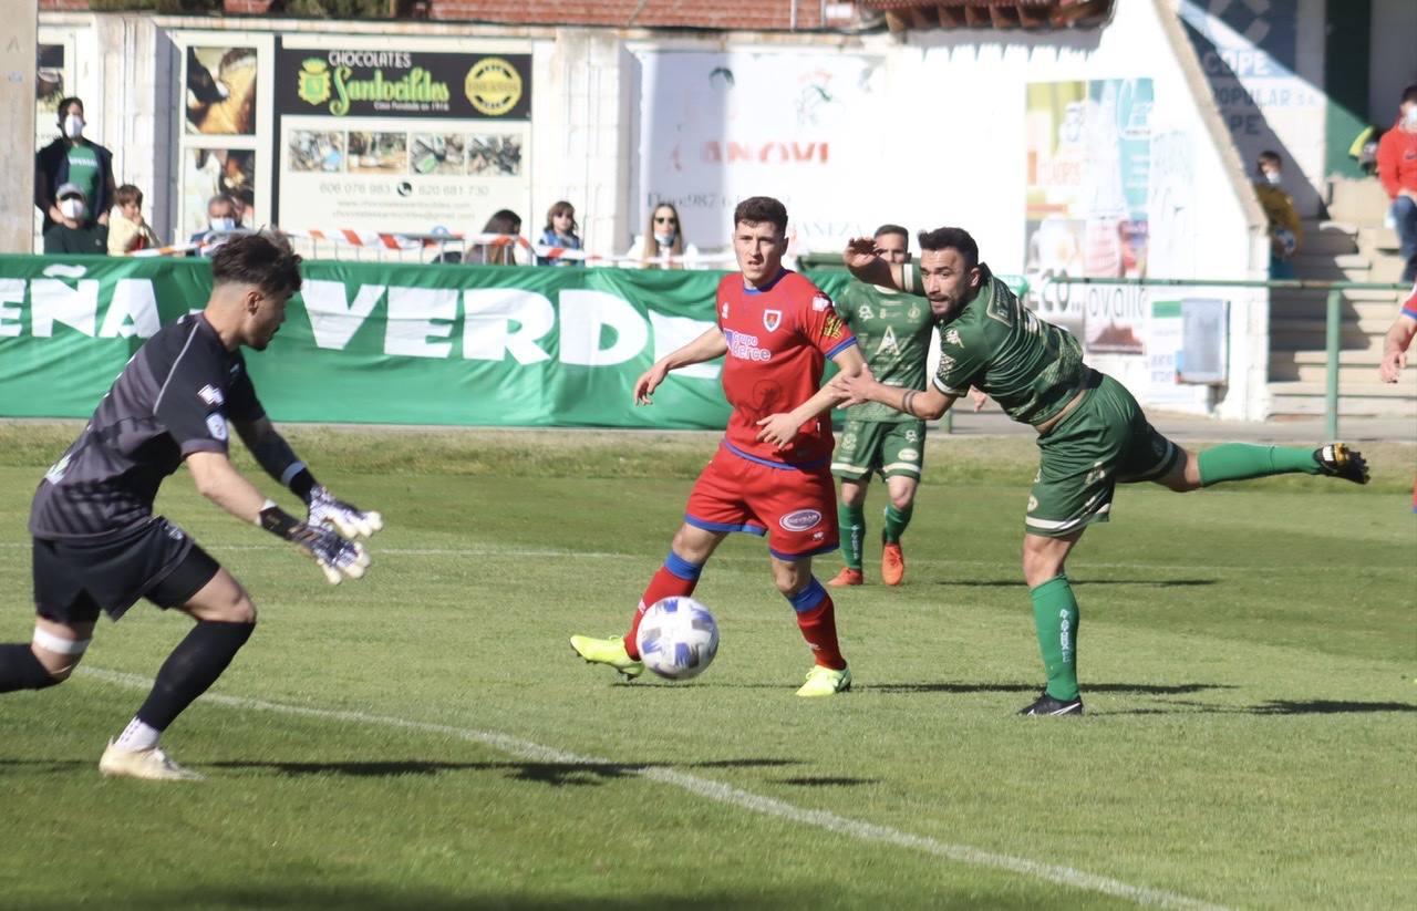
M979 293L939 324L935 387L964 395L969 387L989 395L1022 424L1043 424L1083 388L1087 367L1073 333L1044 323L979 264ZM924 293L920 273L907 268L913 293Z

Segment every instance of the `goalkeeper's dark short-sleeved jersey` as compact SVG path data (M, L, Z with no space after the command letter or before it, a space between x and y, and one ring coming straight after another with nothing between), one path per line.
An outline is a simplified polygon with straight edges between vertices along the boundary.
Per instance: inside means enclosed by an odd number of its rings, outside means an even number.
M193 452L227 451L227 418L255 421L245 360L201 315L160 329L40 482L30 533L98 541L146 523L163 479Z

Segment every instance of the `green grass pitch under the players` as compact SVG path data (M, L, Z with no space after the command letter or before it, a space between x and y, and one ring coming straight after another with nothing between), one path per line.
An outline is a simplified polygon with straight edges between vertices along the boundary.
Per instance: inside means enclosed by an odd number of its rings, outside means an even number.
M0 425L0 640L30 636L30 493L75 432ZM856 689L808 701L747 536L697 592L723 633L703 677L619 684L565 643L622 630L714 436L289 435L383 510L371 575L330 588L173 477L160 509L261 611L164 738L210 779L99 778L187 629L102 622L74 680L0 696L0 904L1380 908L1417 885L1408 446L1365 446L1366 489L1124 487L1068 565L1090 714L1047 720L1013 715L1041 683L1029 439L932 442L907 584L836 594Z

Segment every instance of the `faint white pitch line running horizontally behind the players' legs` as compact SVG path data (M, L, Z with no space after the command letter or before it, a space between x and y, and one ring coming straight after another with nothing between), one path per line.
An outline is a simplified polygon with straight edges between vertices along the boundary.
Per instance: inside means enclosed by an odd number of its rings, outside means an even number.
M28 550L31 544L28 541L0 541L0 550ZM203 544L208 553L217 551L276 551L289 550L286 544ZM370 554L378 557L381 554L388 554L394 557L478 557L478 558L507 558L507 560L521 560L521 558L546 558L546 560L633 560L639 562L649 562L655 560L652 554L609 554L598 551L582 551L582 550L564 550L564 548L500 548L500 547L380 547L378 544L370 545ZM731 554L714 555L713 562L762 562L765 557L738 557ZM925 567L1009 567L1019 570L1020 562L1017 560L931 560L928 557L911 557L913 564ZM377 562L377 560L376 560ZM1210 565L1202 567L1196 564L1166 564L1166 562L1095 562L1078 560L1076 562L1078 570L1161 570L1168 572L1274 572L1275 565L1263 567L1238 567L1238 565ZM1285 572L1331 572L1333 568L1326 565L1291 565L1284 567ZM1411 572L1407 567L1386 567L1386 565L1372 565L1363 567L1363 572ZM1022 575L1022 570L1020 570ZM1081 579L1087 582L1087 579Z

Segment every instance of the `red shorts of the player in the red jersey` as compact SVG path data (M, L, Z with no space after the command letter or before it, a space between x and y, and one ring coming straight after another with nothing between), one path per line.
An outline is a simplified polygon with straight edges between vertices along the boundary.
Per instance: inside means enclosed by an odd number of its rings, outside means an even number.
M708 531L768 536L779 560L836 550L836 486L828 462L811 469L768 465L718 446L699 475L684 521Z

